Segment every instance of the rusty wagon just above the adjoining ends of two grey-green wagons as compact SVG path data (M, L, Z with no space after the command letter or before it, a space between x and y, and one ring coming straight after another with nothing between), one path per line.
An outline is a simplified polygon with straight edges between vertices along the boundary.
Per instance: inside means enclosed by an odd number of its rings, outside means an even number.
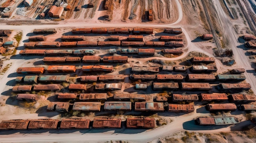
M107 93L80 93L79 100L107 100Z

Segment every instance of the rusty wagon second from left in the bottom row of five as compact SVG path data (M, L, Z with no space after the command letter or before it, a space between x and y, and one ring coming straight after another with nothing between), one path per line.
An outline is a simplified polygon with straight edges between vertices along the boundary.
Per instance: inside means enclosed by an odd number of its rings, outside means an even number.
M56 129L57 119L34 119L30 120L28 129Z

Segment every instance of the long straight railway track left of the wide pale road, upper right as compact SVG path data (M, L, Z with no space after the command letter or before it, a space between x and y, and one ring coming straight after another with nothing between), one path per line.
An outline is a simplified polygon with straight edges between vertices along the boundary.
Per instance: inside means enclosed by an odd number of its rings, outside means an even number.
M218 40L218 37L217 37L216 32L215 32L215 30L214 30L214 27L213 27L213 24L212 24L212 22L211 22L209 13L208 13L208 11L207 11L207 9L206 9L206 6L205 6L205 4L204 4L204 0L201 0L201 2L202 2L202 5L203 5L203 7L204 7L204 12L205 12L205 15L206 15L206 19L207 19L207 21L208 21L208 23L209 23L209 26L210 26L210 28L211 28L211 32L212 32L213 38L214 38L215 43L216 43L216 45L217 45L218 52L220 53L220 56L222 57L222 62L225 63L225 62L227 62L227 60L226 60L226 58L225 58L224 53L222 52L222 48L221 48L221 45L220 45L220 41Z

